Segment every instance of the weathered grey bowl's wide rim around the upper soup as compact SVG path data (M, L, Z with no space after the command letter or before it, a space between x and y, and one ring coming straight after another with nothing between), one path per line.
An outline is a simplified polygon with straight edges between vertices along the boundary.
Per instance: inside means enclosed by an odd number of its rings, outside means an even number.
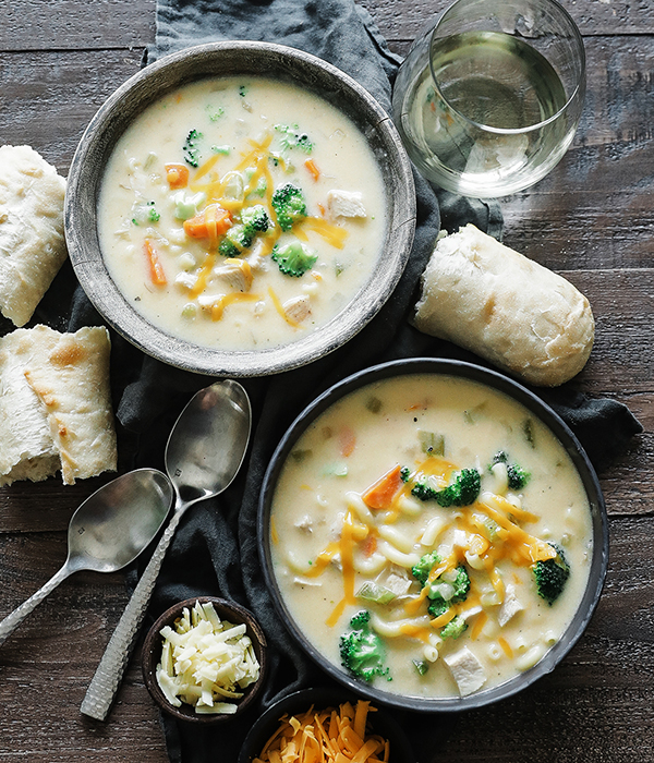
M104 168L135 116L165 93L207 76L264 75L303 86L348 116L371 146L386 189L387 232L366 282L326 325L295 342L265 350L227 351L193 344L157 328L122 295L105 266L96 225ZM210 43L170 53L121 85L89 122L68 178L64 229L75 275L107 323L145 353L214 376L275 374L310 363L351 339L392 293L415 230L411 164L390 117L352 77L294 48L247 40Z

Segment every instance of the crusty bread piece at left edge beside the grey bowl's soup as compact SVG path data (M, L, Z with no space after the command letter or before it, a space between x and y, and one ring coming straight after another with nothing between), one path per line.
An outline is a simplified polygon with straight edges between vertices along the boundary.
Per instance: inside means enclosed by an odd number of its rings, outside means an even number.
M0 146L0 312L32 317L66 257L65 180L29 146Z

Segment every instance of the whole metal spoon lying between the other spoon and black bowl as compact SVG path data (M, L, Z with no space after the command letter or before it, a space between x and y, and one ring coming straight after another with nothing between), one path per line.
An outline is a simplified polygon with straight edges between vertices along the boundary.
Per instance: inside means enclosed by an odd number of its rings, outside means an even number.
M222 493L237 476L250 439L247 393L226 379L201 389L181 412L166 447L166 471L174 486L174 513L134 589L82 702L82 712L105 720L116 698L155 582L186 509Z

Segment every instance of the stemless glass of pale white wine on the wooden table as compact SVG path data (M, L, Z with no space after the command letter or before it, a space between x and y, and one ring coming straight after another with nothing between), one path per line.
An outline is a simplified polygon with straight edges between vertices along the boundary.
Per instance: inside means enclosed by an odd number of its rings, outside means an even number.
M496 197L555 167L584 92L583 41L558 2L457 0L409 51L392 117L429 181Z

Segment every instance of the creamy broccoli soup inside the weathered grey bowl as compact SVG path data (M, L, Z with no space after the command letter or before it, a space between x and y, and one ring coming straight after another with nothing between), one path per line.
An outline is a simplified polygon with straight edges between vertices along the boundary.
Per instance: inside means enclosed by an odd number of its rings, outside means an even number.
M363 135L320 98L206 80L121 137L98 231L112 279L150 323L204 347L278 347L330 320L370 277L383 182Z

